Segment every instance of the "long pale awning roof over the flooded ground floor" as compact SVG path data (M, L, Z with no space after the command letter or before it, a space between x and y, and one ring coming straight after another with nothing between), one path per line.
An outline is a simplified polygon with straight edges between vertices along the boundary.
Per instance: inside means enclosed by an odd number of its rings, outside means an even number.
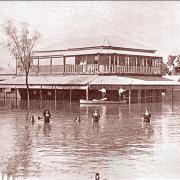
M180 85L180 82L157 76L39 75L29 76L30 85ZM25 76L14 76L0 85L25 85Z

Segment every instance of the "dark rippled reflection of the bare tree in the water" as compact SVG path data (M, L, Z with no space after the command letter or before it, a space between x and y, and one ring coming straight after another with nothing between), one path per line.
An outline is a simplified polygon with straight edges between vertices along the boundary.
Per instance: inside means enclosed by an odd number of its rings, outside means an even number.
M21 126L18 117L15 119L16 136L14 137L15 144L13 153L5 160L6 170L5 174L19 175L27 177L29 174L29 167L32 163L32 137L30 135L30 129L28 126ZM11 152L10 152L11 153Z

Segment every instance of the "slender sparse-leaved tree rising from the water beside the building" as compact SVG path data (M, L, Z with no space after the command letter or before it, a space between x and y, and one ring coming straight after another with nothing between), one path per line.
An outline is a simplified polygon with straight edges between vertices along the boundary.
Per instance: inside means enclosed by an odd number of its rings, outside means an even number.
M26 76L27 102L29 108L29 72L32 65L33 48L40 37L35 31L30 33L28 24L23 24L21 28L16 27L12 21L7 21L4 25L5 34L7 35L7 47L16 59L16 66L20 64Z

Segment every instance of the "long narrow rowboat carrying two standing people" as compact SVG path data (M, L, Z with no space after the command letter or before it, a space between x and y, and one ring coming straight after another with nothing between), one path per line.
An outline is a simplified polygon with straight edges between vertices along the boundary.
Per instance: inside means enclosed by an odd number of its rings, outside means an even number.
M107 99L93 99L93 100L85 100L85 99L80 99L80 104L126 104L127 100L122 100L122 101L107 101Z

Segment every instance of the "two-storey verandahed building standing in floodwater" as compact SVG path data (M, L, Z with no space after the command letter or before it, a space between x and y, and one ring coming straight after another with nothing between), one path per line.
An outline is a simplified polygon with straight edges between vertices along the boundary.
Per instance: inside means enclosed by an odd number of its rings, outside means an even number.
M79 100L100 98L101 88L109 100L118 101L125 90L131 102L156 102L176 82L161 76L162 57L155 50L94 46L36 51L30 69L30 97ZM23 68L17 63L15 78L2 82L26 98Z

